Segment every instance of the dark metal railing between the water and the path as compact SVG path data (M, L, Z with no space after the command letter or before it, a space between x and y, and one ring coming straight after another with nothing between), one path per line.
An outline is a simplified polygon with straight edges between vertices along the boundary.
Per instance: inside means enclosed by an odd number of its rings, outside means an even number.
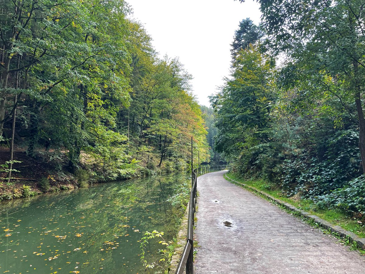
M187 243L185 244L185 248L183 254L180 257L180 261L177 265L177 269L175 274L182 274L184 270L186 270L186 274L193 274L193 257L194 257L194 238L193 238L193 226L194 226L194 213L196 212L196 199L197 199L197 190L196 190L196 181L199 175L215 172L220 170L226 170L230 165L216 165L212 167L199 167L195 168L191 172L191 183L192 188L190 192L189 199L189 214L188 214L188 233L186 236Z

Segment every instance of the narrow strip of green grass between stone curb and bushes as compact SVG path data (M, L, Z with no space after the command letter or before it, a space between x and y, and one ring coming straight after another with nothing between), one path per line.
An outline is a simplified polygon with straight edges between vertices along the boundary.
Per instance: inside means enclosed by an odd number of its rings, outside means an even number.
M228 178L236 180L238 182L247 184L248 186L255 187L273 197L280 199L281 201L290 203L291 205L316 215L323 220L331 222L334 225L339 225L347 231L351 231L361 238L365 238L365 227L357 222L356 219L349 217L345 212L338 209L317 209L311 200L295 199L293 197L288 198L287 195L283 194L279 189L273 189L270 184L260 179L243 179L233 173L227 174Z

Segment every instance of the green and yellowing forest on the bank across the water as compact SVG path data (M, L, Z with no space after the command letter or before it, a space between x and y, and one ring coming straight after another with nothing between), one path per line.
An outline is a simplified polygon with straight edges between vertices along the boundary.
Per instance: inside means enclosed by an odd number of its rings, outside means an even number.
M184 170L191 137L209 162L192 76L177 57L158 57L126 2L0 7L0 199L28 193L11 178L48 191Z

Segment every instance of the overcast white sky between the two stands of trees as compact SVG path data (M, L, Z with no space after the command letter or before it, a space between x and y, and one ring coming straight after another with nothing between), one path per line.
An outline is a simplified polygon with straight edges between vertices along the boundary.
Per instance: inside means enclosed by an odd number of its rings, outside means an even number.
M260 22L259 5L252 0L126 0L153 39L163 57L179 57L194 77L193 93L200 104L209 106L229 76L230 44L242 19Z

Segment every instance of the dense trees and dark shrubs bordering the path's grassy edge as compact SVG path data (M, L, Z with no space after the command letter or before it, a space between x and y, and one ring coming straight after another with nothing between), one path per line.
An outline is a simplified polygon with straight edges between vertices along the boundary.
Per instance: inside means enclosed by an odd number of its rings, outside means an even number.
M364 221L364 3L258 2L262 21L240 22L211 96L215 149L243 177Z

